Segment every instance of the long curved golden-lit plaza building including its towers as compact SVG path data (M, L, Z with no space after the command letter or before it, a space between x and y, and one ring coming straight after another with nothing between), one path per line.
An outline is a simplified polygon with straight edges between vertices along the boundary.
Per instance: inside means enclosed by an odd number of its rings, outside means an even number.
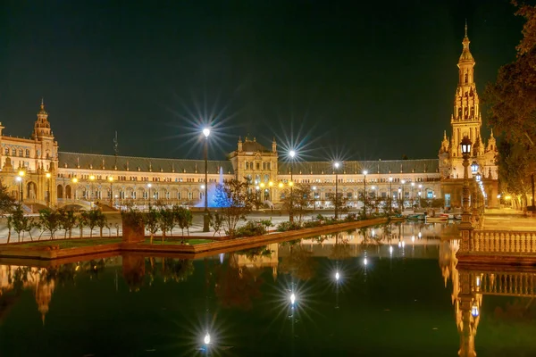
M498 204L497 145L492 134L486 144L482 141L475 62L466 28L462 44L451 137L445 131L438 158L341 162L335 169L333 162L283 160L275 139L269 149L255 137L239 137L229 160L207 162L205 182L204 160L60 152L41 102L30 138L6 136L0 124L0 179L13 197L34 211L45 205L94 203L116 208L129 204L144 208L156 202L201 207L205 185L211 205L216 185L230 179L248 180L262 200L276 207L290 183L309 184L318 208L332 207L330 196L336 186L353 206L366 195L403 199L406 206L420 198L444 198L446 206L461 207L464 168L459 144L466 136L473 142L471 162L479 164L486 205L493 207Z

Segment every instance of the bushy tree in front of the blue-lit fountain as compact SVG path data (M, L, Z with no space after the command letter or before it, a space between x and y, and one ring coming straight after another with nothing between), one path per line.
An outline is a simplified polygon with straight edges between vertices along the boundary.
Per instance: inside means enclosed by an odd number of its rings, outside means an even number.
M247 181L231 179L216 187L214 202L222 207L225 233L233 237L239 220L246 220L255 202L255 194L249 191Z

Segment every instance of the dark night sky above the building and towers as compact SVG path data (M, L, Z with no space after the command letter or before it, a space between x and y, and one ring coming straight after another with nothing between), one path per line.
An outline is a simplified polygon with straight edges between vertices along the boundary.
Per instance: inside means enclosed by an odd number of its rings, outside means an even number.
M62 151L113 154L118 130L120 154L181 158L211 116L213 158L247 133L306 160L437 157L465 18L481 96L523 24L509 0L1 6L4 133L29 137L44 96Z

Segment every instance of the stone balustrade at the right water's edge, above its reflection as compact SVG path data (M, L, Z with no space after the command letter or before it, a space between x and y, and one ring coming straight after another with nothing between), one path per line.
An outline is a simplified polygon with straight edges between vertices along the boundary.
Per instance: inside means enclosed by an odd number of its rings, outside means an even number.
M536 254L536 231L473 230L469 253Z

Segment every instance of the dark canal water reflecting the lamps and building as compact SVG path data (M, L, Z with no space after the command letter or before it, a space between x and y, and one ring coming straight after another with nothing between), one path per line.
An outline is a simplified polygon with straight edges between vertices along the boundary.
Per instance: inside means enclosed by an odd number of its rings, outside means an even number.
M457 245L453 224L404 223L195 260L0 261L0 356L536 355L533 289L499 284L532 271L457 270Z

